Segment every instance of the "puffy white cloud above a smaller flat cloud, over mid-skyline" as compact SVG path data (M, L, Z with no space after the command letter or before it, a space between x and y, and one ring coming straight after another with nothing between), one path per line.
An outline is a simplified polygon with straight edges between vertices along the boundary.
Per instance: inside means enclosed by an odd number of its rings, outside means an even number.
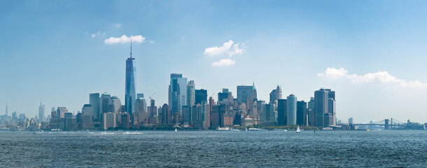
M232 57L233 55L242 54L244 52L244 46L239 48L239 43L235 43L230 40L228 42L223 43L221 46L214 46L211 48L205 48L203 54L208 55L210 57L218 56L218 55L228 55ZM243 45L243 44L242 44Z

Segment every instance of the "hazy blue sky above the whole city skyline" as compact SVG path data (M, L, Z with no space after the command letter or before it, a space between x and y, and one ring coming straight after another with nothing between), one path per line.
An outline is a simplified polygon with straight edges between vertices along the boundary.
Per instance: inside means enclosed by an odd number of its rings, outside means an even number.
M157 106L167 102L169 74L183 73L215 99L223 87L236 96L236 85L253 82L266 101L278 84L283 96L307 101L326 87L337 92L339 120L425 123L426 7L426 1L1 1L0 102L9 113L34 117L40 99L46 113L52 106L77 113L92 92L123 99L125 35L140 37L133 43L137 91L155 92ZM111 37L118 43L106 42ZM223 66L214 64L221 60Z

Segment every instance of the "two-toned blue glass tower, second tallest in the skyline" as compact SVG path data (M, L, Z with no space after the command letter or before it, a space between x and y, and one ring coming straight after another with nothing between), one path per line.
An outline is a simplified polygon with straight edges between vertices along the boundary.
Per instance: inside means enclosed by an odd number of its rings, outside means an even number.
M183 78L181 73L171 74L171 83L169 84L168 96L169 108L172 114L180 112L182 114L182 106L187 104L187 78Z

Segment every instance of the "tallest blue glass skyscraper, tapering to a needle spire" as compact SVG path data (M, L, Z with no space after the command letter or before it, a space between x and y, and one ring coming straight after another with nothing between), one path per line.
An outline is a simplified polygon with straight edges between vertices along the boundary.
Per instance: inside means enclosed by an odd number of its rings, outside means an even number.
M132 114L134 111L135 99L135 58L132 57L132 41L130 42L130 57L126 60L126 81L125 81L125 109L127 113Z

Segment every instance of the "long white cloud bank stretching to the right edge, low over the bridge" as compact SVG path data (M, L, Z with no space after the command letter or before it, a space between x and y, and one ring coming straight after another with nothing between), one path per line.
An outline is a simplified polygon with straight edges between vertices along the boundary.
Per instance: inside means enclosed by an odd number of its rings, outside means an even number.
M363 75L358 74L348 74L347 71L343 68L335 69L328 68L325 70L325 73L318 73L317 76L325 76L326 78L346 78L349 79L351 83L382 83L385 85L390 85L391 87L407 87L407 88L416 88L421 90L427 90L427 83L422 83L419 80L407 81L404 79L396 78L392 76L387 71L378 71L375 73L365 73Z

